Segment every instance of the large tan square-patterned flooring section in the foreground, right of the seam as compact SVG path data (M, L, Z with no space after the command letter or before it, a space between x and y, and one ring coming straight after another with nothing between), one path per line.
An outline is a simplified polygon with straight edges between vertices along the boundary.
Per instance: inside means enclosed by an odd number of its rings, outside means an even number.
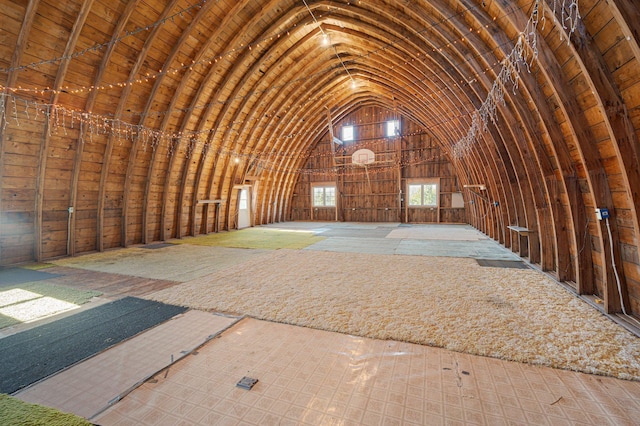
M245 319L93 421L634 425L639 397L638 382Z

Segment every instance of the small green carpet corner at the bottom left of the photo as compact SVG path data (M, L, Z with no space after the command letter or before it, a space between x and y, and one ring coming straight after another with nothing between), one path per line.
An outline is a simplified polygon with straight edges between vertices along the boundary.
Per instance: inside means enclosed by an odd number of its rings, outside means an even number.
M42 405L29 404L0 394L0 424L6 426L85 426L90 422L74 414L63 413Z

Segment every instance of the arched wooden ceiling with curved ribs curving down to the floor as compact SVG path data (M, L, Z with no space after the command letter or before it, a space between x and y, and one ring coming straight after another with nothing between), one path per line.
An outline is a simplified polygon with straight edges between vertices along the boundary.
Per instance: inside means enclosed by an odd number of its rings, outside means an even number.
M378 105L430 133L462 184L487 185L474 226L508 246L507 226L527 227L530 260L610 311L615 262L639 310L633 0L0 4L0 263L207 232L201 200L227 200L228 227L247 176L256 222L284 220L327 109ZM460 145L533 18L517 87ZM612 212L613 246L596 207Z

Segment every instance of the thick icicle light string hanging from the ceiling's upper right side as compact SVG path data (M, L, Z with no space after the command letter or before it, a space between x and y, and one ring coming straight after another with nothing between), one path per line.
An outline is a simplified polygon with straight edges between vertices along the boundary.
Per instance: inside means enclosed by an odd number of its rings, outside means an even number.
M554 0L554 22L557 22L556 7L558 5L560 5L561 10L560 23L563 29L568 30L567 43L569 43L571 35L575 32L578 21L580 20L578 0ZM540 0L536 0L524 30L518 36L518 40L511 52L502 61L502 68L487 98L480 108L473 113L471 117L471 127L467 131L467 134L453 145L455 158L462 158L471 150L478 136L488 130L489 123L496 125L498 106L506 106L504 99L505 90L510 86L513 94L515 95L517 93L522 68L525 68L527 72L531 72L531 66L538 58L538 25L540 21L542 21L544 27L546 22L544 10L540 10L540 7ZM560 37L562 39L562 34Z

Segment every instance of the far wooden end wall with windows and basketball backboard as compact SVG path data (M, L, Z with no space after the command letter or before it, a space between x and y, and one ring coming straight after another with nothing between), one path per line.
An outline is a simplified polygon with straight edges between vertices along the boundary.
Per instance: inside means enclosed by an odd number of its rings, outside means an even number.
M376 106L356 107L332 124L339 142L332 147L327 130L314 144L293 190L291 220L467 223L453 164L419 125ZM389 125L397 132L389 131ZM353 129L353 140L340 139L345 127ZM374 154L371 163L358 164L361 150ZM408 185L422 182L436 185L434 205L409 202ZM314 204L317 187L334 187L334 202Z

